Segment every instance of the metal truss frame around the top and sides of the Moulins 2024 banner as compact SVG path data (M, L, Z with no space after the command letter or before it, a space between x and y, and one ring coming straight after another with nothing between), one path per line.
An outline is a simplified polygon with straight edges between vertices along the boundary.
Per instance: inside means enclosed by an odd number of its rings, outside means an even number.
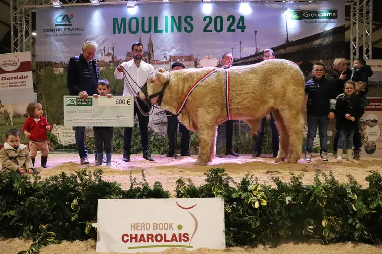
M235 1L235 0L218 0ZM240 1L240 0L237 0ZM327 0L251 0L251 2L324 2ZM341 0L339 0L341 1ZM364 58L372 59L373 33L373 0L342 0L350 5L350 61ZM137 1L137 3L158 2L158 0ZM170 0L170 2L194 2L187 0ZM100 5L126 4L126 1L100 2ZM51 0L11 0L11 52L32 51L34 38L32 35L32 12L36 8L53 7ZM64 6L89 6L81 0L71 0ZM362 50L362 52L361 52Z

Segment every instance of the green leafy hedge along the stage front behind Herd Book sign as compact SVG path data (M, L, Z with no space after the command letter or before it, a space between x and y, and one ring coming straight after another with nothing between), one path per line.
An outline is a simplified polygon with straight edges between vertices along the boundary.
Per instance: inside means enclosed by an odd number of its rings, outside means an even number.
M205 183L176 181L178 198L222 197L226 204L227 246L276 245L293 240L311 243L359 241L381 244L382 176L374 172L362 188L354 177L339 183L332 172L317 171L314 183L304 185L303 175L290 173L290 182L278 177L277 188L259 184L253 175L237 183L224 169L210 169ZM102 170L41 181L35 175L0 173L1 237L33 239L28 253L61 240L96 239L99 198L169 198L160 182L151 188L130 175L130 188L102 179ZM94 227L92 227L92 225ZM24 252L24 253L25 253Z

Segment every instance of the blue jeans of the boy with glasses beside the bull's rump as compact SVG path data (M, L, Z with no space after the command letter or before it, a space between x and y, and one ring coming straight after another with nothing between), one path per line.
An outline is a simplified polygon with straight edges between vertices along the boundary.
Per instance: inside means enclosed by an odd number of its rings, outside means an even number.
M308 134L306 135L305 151L307 151L308 153L311 153L313 151L313 141L314 137L316 137L317 127L319 128L320 136L320 153L326 153L328 151L328 115L307 115L306 120L308 123Z

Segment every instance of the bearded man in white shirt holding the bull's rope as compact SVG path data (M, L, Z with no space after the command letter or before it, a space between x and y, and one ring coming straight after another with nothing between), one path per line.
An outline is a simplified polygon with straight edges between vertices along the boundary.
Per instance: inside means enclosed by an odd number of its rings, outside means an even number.
M137 97L139 107L143 110L143 112L148 112L149 104L144 101L141 101L138 98L137 94L140 91L140 87L146 83L150 74L154 72L154 67L152 67L151 64L148 64L142 61L142 56L143 56L142 43L136 42L132 44L131 54L133 56L133 59L128 62L123 62L121 65L119 65L117 69L114 71L114 77L116 79L123 79L123 71L124 71L123 68L130 74L133 80L131 80L129 75L126 74L127 79L130 82L132 89L134 90L135 93L131 94L129 92L129 89L127 87L128 83L126 83L126 80L125 80L123 96ZM137 84L134 81L137 82ZM148 137L149 117L142 115L137 107L137 104L134 103L134 117L136 114L138 116L139 129L141 131L141 148L143 152L143 158L149 161L154 161L154 159L151 157L150 150L149 150L149 137ZM122 157L122 160L125 162L130 161L131 134L132 134L132 127L126 127L124 138L123 138L124 153Z

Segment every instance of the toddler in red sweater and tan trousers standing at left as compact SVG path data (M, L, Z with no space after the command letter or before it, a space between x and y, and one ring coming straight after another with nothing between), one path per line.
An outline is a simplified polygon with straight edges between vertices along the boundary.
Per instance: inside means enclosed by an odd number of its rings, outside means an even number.
M23 133L29 139L29 154L34 161L36 159L37 151L41 151L41 167L47 168L48 161L48 137L47 131L52 130L47 118L42 116L42 106L39 103L30 103L27 107L27 114L29 117L24 122Z

